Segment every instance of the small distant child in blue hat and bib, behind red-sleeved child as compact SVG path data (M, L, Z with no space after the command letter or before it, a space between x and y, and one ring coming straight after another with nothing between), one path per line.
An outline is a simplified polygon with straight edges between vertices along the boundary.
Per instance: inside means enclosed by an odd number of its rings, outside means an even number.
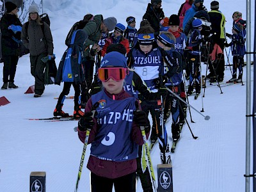
M129 47L131 48L134 45L134 38L137 38L137 29L135 28L135 17L127 17L126 22L128 25L124 31L124 38L127 38L127 40L129 40Z

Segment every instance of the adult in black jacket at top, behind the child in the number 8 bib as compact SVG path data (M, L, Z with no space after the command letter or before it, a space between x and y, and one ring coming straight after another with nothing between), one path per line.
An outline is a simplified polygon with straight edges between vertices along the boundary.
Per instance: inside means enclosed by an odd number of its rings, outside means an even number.
M161 6L161 0L151 0L151 4L148 3L147 11L143 15L143 19L148 20L150 26L155 30L155 37L159 34L159 22L164 17L164 12Z

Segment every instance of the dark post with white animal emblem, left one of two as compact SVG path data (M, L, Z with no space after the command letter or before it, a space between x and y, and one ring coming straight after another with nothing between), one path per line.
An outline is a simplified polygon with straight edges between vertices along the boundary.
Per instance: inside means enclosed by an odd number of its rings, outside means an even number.
M30 173L30 192L45 192L46 172Z

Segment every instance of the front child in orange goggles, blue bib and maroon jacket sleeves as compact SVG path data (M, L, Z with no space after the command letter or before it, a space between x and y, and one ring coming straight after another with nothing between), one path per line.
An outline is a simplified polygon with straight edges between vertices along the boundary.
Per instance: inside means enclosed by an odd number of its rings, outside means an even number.
M138 146L144 143L141 129L150 124L146 113L138 110L140 102L124 91L128 72L123 54L113 51L104 56L98 70L104 90L88 100L86 113L78 123L82 142L86 130L90 130L88 143L92 147L87 168L92 192L110 192L113 186L116 192L136 191L136 158ZM99 107L92 118L90 111L97 102Z

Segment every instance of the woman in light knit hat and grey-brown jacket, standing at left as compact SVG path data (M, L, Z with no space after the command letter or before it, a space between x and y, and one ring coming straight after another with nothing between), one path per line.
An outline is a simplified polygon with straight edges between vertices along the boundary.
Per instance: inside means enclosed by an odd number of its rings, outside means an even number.
M42 22L38 12L36 4L29 6L29 21L23 24L21 33L22 43L30 52L31 74L35 77L34 97L41 97L45 89L45 63L41 59L45 56L49 56L49 60L54 58L50 27Z

